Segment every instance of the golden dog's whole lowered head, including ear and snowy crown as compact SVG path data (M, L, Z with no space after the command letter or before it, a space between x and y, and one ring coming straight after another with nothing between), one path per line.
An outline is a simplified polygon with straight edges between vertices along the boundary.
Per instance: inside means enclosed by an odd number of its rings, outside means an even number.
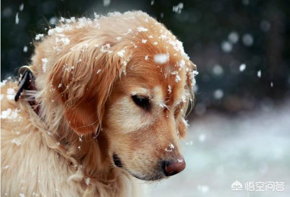
M60 58L48 60L54 62L49 82L70 127L101 132L112 163L139 179L182 171L178 138L187 128L195 69L182 43L142 12L70 26L64 36L51 30L51 40L69 43L56 42Z

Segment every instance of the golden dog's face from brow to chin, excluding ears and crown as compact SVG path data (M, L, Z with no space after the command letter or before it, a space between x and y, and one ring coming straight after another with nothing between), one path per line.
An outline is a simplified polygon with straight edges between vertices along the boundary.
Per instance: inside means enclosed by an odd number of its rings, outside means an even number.
M130 68L107 102L103 131L109 139L109 156L142 180L176 174L185 167L178 146L179 136L185 134L182 111L189 96L185 69L176 82L171 73L179 67L170 62L143 61Z

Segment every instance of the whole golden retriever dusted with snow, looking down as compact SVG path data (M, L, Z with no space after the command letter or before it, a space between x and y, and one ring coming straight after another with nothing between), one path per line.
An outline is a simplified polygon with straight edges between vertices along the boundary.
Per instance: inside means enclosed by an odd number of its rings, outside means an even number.
M1 83L3 197L137 197L185 168L196 66L148 14L61 17L24 70Z

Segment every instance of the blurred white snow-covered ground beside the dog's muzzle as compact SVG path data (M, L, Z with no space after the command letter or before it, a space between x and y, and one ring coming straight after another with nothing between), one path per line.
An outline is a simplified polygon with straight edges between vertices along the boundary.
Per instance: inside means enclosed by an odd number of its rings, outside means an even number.
M290 102L240 116L209 113L189 122L186 168L148 185L150 197L290 197ZM244 188L232 191L236 180ZM248 192L246 182L285 182L285 191Z

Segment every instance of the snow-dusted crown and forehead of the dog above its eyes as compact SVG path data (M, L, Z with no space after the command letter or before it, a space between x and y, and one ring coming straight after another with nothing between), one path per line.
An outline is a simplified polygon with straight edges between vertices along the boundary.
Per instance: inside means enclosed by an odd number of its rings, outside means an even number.
M126 90L144 94L137 88L142 87L149 92L162 92L169 102L180 100L192 71L182 42L147 14L128 12L123 17L118 20L124 20L126 25L115 41L120 44L117 57L123 65L123 79L128 82ZM134 23L127 23L128 17Z

